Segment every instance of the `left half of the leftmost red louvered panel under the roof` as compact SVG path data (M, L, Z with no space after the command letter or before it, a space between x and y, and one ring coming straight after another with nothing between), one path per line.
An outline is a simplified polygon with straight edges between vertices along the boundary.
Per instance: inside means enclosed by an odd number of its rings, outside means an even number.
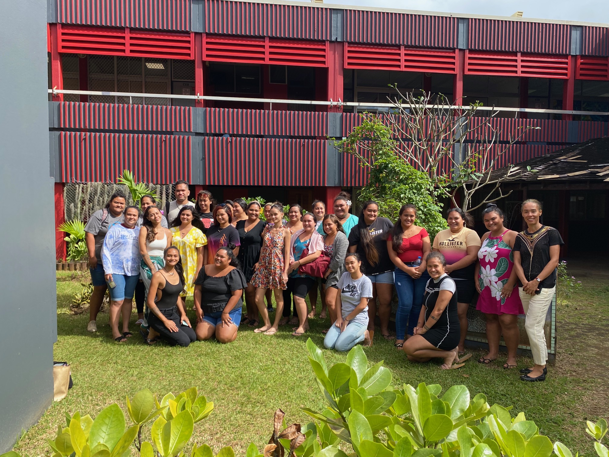
M59 52L127 55L125 29L57 24L57 35Z

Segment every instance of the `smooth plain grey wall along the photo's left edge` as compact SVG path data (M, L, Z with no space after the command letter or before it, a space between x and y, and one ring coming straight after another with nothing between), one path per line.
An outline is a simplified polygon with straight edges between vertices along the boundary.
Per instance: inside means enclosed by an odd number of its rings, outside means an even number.
M53 400L46 0L0 2L0 453Z

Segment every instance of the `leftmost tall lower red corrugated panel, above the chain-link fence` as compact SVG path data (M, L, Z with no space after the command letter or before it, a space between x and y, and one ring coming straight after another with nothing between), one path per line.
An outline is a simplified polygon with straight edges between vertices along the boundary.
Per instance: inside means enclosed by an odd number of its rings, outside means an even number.
M61 132L62 182L116 182L130 169L143 182L191 180L191 136Z

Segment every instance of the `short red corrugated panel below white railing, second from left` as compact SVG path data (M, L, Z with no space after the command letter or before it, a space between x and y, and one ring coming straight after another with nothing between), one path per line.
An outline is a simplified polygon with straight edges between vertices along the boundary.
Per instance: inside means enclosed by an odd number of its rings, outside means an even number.
M327 136L328 113L204 108L205 132L249 135Z

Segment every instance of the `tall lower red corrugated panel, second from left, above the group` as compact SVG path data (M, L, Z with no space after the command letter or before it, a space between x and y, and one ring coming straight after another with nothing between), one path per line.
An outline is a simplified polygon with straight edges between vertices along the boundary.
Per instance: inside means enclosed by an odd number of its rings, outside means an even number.
M326 141L206 137L205 183L325 186Z

